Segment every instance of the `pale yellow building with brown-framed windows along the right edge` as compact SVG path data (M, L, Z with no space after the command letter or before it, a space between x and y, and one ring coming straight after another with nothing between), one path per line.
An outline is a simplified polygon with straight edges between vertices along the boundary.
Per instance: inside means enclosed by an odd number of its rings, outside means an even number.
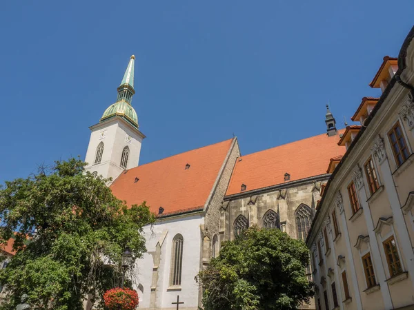
M384 58L382 96L317 207L306 240L317 309L414 309L413 37L398 68Z

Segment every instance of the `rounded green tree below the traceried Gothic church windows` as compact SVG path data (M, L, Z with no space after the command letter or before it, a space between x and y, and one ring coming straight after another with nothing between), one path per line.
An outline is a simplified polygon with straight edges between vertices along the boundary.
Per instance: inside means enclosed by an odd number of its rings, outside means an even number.
M309 252L279 229L246 229L199 273L205 310L297 309L313 296Z

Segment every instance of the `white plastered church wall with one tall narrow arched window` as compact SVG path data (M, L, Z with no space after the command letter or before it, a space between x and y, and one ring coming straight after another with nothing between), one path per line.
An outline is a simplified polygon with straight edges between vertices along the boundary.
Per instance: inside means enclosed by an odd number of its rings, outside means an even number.
M137 260L135 265L135 289L140 295L139 309L150 308L150 295L152 285L152 269L154 267L151 252L156 251L157 242L161 241L161 259L159 262L158 281L156 285L157 298L155 309L176 309L172 302L177 301L179 295L180 309L197 310L199 304L199 285L195 276L199 273L201 237L200 225L204 224L201 214L177 216L157 221L150 227L145 227L147 254ZM166 234L165 238L164 235ZM172 255L172 240L177 234L184 239L181 285L170 287L170 268ZM137 288L141 284L144 293Z

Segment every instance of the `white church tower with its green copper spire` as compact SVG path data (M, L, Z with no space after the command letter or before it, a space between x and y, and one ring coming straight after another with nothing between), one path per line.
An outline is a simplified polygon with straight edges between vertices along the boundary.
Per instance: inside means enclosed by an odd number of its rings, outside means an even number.
M138 116L132 107L135 56L132 55L117 101L110 105L99 120L89 127L92 131L85 161L86 169L104 178L115 180L125 169L136 167L144 134L139 131Z

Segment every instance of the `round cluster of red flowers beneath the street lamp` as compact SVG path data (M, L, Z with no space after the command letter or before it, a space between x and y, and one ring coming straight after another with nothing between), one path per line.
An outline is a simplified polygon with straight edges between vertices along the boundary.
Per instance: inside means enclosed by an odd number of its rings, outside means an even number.
M133 289L115 287L103 294L103 301L109 310L134 310L138 307L139 298Z

